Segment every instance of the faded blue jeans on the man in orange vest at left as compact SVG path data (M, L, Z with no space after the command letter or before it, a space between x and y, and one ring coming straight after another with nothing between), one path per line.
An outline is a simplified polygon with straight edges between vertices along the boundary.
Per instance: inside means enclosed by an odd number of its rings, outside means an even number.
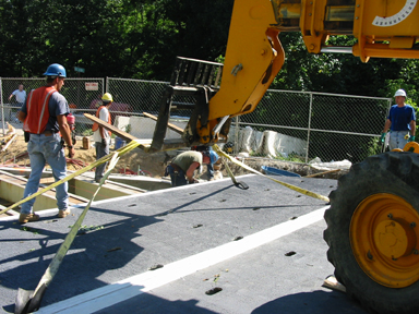
M27 143L27 152L29 153L32 171L23 194L24 198L38 192L39 180L43 176L46 162L48 162L51 167L52 176L56 181L64 179L67 176L65 155L61 145L61 136L59 133L50 136L46 136L44 134L31 134L31 140ZM56 188L58 209L65 209L69 206L68 190L68 182ZM21 214L33 213L35 198L22 204Z

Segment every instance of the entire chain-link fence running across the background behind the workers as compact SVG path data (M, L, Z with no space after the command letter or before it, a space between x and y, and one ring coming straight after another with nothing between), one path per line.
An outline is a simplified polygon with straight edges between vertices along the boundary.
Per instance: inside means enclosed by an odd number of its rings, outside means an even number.
M45 78L0 78L1 119L15 122L19 107L15 97L9 101L9 96L19 84L28 93L44 83ZM108 92L113 97L109 110L113 125L136 137L151 138L155 121L144 118L143 112L158 114L167 84L112 77L67 78L61 93L75 116L77 135L92 135L92 121L83 113L94 114L101 95ZM185 104L194 104L193 97L175 96L173 107ZM308 162L318 157L323 162L358 162L381 153L378 138L390 107L391 98L268 89L253 112L234 118L225 147L235 154L290 161ZM184 128L190 116L191 110L173 111L170 122ZM166 137L179 135L168 130Z

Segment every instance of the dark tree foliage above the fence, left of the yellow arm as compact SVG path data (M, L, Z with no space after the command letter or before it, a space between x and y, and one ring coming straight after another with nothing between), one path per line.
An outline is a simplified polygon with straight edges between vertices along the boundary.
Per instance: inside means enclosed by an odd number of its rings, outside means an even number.
M224 53L232 0L0 0L0 76L59 62L86 76L168 80L177 55Z

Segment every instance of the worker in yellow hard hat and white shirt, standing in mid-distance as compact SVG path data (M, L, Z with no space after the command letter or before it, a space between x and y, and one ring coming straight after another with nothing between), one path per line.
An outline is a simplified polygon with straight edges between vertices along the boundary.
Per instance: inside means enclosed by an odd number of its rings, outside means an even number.
M101 96L101 104L96 111L96 118L99 118L103 121L112 124L109 113L109 107L112 105L113 98L109 93L105 93ZM101 157L109 155L109 145L110 145L110 135L112 134L110 131L107 131L105 128L100 126L96 122L93 123L93 140L95 141L96 146L96 160ZM105 168L108 162L104 162L96 167L95 170L95 182L99 183L101 178L104 178Z

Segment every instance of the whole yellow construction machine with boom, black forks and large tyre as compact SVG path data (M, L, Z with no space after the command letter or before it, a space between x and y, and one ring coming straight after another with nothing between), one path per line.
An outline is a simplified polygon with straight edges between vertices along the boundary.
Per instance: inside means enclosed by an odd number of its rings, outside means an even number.
M177 59L152 149L165 142L170 111L182 108L193 112L179 141L183 146L226 141L231 118L252 112L283 67L280 32L301 32L311 53L352 53L363 62L419 59L418 2L236 0L225 63ZM330 36L339 35L357 44L327 46ZM194 96L195 102L173 104L177 95ZM330 195L327 258L347 293L371 312L419 313L418 178L418 154L390 152L354 165Z

